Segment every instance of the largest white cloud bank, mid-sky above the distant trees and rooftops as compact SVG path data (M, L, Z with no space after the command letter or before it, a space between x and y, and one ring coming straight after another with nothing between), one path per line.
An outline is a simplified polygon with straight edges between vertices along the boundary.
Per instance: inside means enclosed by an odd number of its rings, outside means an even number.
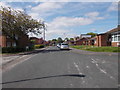
M104 19L99 17L98 12L91 12L86 14L88 17L56 17L52 22L48 23L47 37L52 37L54 35L64 37L66 33L67 37L74 37L75 34L73 30L70 30L70 27L78 27L83 25L89 25L94 23L96 20ZM94 18L93 18L94 17ZM93 30L95 31L95 30Z

